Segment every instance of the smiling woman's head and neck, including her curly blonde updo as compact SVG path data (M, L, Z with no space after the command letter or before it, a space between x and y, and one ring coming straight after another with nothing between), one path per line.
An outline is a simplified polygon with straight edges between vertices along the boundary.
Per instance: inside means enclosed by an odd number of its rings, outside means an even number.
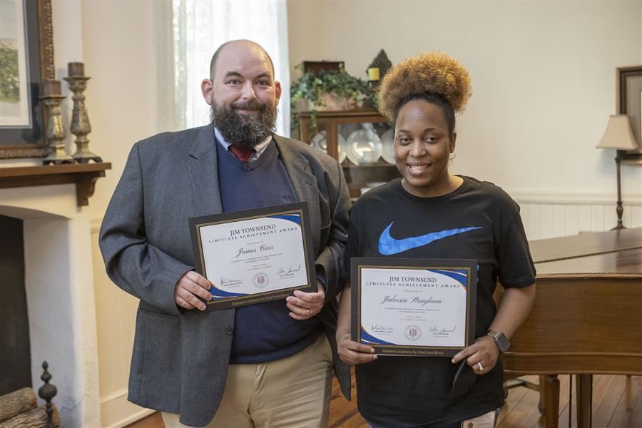
M463 181L448 173L448 161L457 141L454 113L464 110L471 95L468 71L445 54L403 64L384 78L379 95L380 110L393 124L402 185L416 196L444 195Z

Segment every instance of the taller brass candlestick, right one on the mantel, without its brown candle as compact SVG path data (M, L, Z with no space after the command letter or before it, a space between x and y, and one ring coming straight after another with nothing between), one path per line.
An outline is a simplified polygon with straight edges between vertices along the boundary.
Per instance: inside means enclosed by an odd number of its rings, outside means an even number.
M85 96L83 92L87 88L87 81L90 77L85 76L68 76L64 78L69 90L73 92L73 113L71 113L71 127L69 130L76 136L76 153L73 158L78 163L88 163L89 161L102 162L100 156L96 156L89 150L89 139L87 134L91 132L91 124L87 109L85 108Z

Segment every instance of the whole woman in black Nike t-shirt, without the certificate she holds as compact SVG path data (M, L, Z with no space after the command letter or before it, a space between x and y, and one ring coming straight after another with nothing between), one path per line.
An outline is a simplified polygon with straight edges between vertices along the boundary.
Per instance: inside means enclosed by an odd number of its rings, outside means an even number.
M529 313L535 268L514 200L492 183L449 173L457 140L455 113L470 95L466 69L445 54L409 58L382 82L379 109L392 123L402 178L370 190L352 207L337 326L339 355L356 365L358 407L373 428L467 427L476 417L496 421L504 404L499 354ZM416 240L394 251L387 246L391 236L402 240L453 230L459 232L425 245ZM477 340L452 360L377 357L372 347L353 342L351 257L476 259ZM499 307L493 300L498 279L505 289ZM462 360L477 381L452 398Z

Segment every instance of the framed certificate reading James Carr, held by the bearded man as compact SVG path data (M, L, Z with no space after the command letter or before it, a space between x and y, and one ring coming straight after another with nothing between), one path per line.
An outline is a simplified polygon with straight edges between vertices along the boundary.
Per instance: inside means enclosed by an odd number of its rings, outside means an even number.
M213 309L317 291L307 203L189 219L196 271Z

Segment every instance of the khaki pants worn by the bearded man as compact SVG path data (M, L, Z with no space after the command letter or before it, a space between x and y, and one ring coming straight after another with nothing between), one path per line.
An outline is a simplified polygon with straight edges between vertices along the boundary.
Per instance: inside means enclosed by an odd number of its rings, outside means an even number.
M208 428L326 428L332 350L324 333L298 354L261 364L232 364ZM165 427L185 427L163 412Z

